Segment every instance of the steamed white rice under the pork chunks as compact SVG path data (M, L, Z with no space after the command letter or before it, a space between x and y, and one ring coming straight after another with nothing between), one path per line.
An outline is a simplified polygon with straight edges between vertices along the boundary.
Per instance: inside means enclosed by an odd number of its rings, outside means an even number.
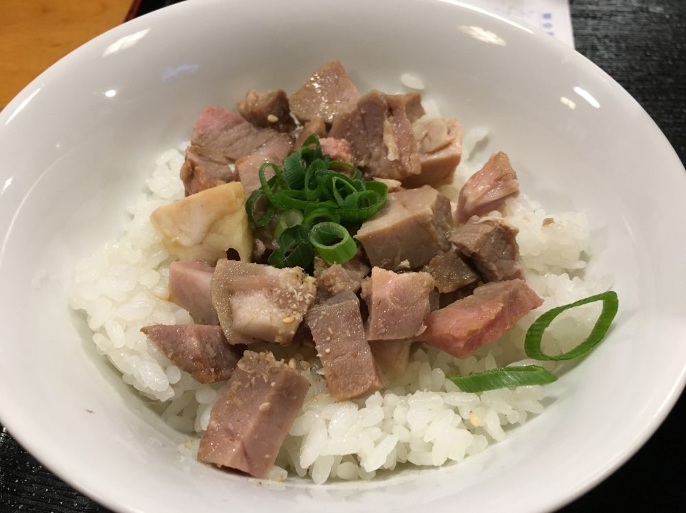
M458 168L456 184L442 188L447 196L454 198L458 187L480 168L480 163L468 157L485 135L485 130L466 135L465 160ZM165 300L171 259L150 223L156 207L183 196L178 178L182 161L180 149L171 149L156 160L145 181L146 192L129 209L131 218L123 235L76 266L70 299L73 308L85 311L93 343L119 369L123 380L147 398L164 402L163 419L193 435L179 452L194 455L222 384L196 382L139 331L154 323L192 323L188 312ZM506 202L504 216L519 228L521 262L528 282L543 297L543 306L499 341L468 358L453 358L431 347L418 349L404 376L381 392L351 401L334 402L320 374L320 363L304 362L296 355L298 369L311 388L271 479L282 481L287 470L309 476L315 483L372 479L377 472L403 464L457 462L503 440L510 428L543 411L543 387L468 394L445 376L523 361L523 335L541 312L607 290L611 282L603 278L589 283L578 275L589 244L584 214L547 214L522 194ZM589 332L597 312L598 305L593 304L560 316L545 334L544 349L555 354L576 345Z

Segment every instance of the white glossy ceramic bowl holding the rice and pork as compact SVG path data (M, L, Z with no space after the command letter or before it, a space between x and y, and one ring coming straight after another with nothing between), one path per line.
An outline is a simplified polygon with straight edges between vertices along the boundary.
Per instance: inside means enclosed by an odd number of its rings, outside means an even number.
M67 289L202 106L231 106L249 87L293 91L333 58L363 90L421 76L442 112L490 127L489 149L510 154L525 192L587 212L589 272L615 277L620 310L598 350L549 385L547 411L477 457L371 483L261 485L180 461L180 435L95 354ZM0 115L0 155L0 420L113 510L549 510L630 457L683 389L684 168L598 67L461 2L174 5L29 84Z

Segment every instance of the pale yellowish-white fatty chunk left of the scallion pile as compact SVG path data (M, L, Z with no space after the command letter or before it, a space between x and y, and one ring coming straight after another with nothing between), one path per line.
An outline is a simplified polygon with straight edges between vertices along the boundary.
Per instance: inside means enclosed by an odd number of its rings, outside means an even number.
M250 260L252 233L240 183L225 183L163 205L150 220L167 251L180 260L214 265L229 249L235 249L241 260Z

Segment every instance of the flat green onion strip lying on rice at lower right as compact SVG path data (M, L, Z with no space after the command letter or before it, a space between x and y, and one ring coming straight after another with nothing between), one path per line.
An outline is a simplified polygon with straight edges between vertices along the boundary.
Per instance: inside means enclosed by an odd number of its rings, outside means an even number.
M500 367L469 376L448 376L463 392L482 392L524 385L546 385L557 380L554 374L539 365Z

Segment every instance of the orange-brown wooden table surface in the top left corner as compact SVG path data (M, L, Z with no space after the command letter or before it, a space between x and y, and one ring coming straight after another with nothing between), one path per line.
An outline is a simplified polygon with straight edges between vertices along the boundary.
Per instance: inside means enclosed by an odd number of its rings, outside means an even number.
M36 76L126 19L132 0L0 0L0 109Z

